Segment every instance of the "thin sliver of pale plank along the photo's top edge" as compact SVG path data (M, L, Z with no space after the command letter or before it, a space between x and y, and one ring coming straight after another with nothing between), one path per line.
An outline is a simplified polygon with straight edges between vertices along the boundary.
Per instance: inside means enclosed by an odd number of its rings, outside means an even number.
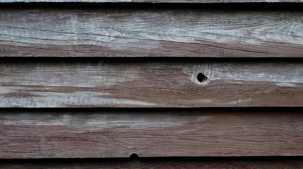
M303 0L0 0L0 3L302 3Z

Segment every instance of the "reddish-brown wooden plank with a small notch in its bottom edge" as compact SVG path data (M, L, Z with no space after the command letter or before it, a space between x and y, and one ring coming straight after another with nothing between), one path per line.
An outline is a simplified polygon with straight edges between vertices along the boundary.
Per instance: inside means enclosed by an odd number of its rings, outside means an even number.
M0 158L303 155L303 113L0 113Z

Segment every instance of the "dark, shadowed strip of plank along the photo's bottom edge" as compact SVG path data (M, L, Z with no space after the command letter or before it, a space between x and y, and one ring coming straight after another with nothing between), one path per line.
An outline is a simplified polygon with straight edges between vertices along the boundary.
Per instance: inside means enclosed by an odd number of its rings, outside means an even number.
M81 160L80 160L81 161ZM190 161L190 160L133 160L133 161L103 161L100 162L24 162L24 163L7 163L2 161L1 168L30 168L30 169L131 169L131 168L199 168L199 169L301 169L303 168L302 160L244 160L244 161Z

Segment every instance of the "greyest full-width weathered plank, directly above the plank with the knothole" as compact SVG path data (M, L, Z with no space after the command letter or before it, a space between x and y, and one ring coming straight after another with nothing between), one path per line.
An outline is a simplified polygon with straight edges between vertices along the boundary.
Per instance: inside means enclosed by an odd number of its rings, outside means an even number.
M303 11L0 11L0 57L303 57Z

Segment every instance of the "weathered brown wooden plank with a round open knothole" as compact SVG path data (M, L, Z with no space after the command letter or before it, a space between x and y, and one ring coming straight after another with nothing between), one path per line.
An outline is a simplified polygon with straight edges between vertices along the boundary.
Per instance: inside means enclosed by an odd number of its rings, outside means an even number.
M0 74L0 107L303 106L302 61L3 60Z

